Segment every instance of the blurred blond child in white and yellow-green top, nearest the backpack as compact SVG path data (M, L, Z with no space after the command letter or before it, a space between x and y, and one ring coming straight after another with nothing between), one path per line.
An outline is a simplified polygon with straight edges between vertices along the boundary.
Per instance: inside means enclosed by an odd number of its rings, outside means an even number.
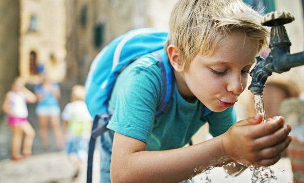
M75 176L79 173L81 162L87 158L92 125L92 118L84 98L84 87L82 85L73 86L71 102L65 106L62 112L65 149L77 169Z

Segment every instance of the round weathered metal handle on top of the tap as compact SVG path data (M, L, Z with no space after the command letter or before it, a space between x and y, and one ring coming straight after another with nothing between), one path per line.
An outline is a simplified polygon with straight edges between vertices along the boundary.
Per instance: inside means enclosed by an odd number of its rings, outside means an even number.
M261 24L264 26L284 25L294 21L293 15L286 11L275 11L264 15Z

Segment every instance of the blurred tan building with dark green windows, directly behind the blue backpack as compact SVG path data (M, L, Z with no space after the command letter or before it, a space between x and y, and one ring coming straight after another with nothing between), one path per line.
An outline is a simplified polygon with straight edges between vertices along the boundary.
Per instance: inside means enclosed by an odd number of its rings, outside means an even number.
M142 27L167 28L177 0L66 0L67 77L84 83L90 64L117 36Z

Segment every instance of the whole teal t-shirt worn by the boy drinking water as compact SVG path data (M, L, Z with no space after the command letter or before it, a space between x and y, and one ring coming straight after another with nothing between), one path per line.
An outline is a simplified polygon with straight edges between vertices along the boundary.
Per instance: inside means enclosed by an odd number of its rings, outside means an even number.
M146 150L157 151L183 147L206 122L213 136L236 122L233 107L202 118L204 105L199 100L184 100L176 84L170 106L156 118L162 89L158 59L146 55L134 61L117 78L109 100L112 117L107 127L146 143Z

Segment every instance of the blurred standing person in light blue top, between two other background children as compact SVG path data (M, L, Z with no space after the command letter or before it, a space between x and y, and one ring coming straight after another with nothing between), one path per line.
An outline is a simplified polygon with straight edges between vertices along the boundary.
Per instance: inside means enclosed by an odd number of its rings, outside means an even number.
M35 94L38 98L36 114L39 120L40 137L43 148L49 148L48 143L48 127L49 122L53 128L56 146L58 149L63 148L62 131L60 126L60 88L57 83L52 83L43 75L41 84L35 86Z

